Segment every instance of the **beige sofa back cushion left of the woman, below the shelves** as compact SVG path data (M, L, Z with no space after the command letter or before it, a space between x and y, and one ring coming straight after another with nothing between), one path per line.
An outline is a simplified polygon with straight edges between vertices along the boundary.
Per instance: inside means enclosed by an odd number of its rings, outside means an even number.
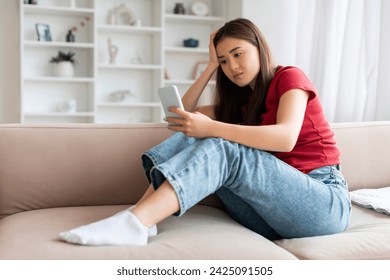
M132 204L148 187L141 154L162 125L1 125L0 218L49 207Z

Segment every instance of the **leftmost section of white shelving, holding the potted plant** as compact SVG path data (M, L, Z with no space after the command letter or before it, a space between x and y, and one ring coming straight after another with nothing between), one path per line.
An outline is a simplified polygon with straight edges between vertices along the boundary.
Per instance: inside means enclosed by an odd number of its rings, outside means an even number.
M95 7L93 0L41 0L39 5L20 1L21 42L21 122L61 123L94 122L95 91ZM86 24L78 26L82 19ZM36 23L50 27L51 41L38 41ZM76 42L66 42L66 33L78 27ZM73 77L57 77L50 59L58 51L75 53ZM61 105L73 99L77 109L60 110Z

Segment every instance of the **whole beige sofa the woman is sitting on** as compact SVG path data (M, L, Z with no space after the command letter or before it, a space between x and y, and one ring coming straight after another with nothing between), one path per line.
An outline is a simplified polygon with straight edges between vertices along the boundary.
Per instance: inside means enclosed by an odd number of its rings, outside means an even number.
M350 188L390 185L390 122L334 125ZM112 215L147 188L140 155L164 125L1 125L0 259L390 259L390 216L353 206L346 232L271 242L210 197L146 246L78 246L58 233Z

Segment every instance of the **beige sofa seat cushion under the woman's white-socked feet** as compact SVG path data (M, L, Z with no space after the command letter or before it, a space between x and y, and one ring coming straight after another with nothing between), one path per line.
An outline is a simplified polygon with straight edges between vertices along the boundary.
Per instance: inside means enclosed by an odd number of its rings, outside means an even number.
M0 220L0 259L296 259L233 221L226 212L195 206L169 217L146 246L80 246L58 233L111 216L126 206L32 210Z

